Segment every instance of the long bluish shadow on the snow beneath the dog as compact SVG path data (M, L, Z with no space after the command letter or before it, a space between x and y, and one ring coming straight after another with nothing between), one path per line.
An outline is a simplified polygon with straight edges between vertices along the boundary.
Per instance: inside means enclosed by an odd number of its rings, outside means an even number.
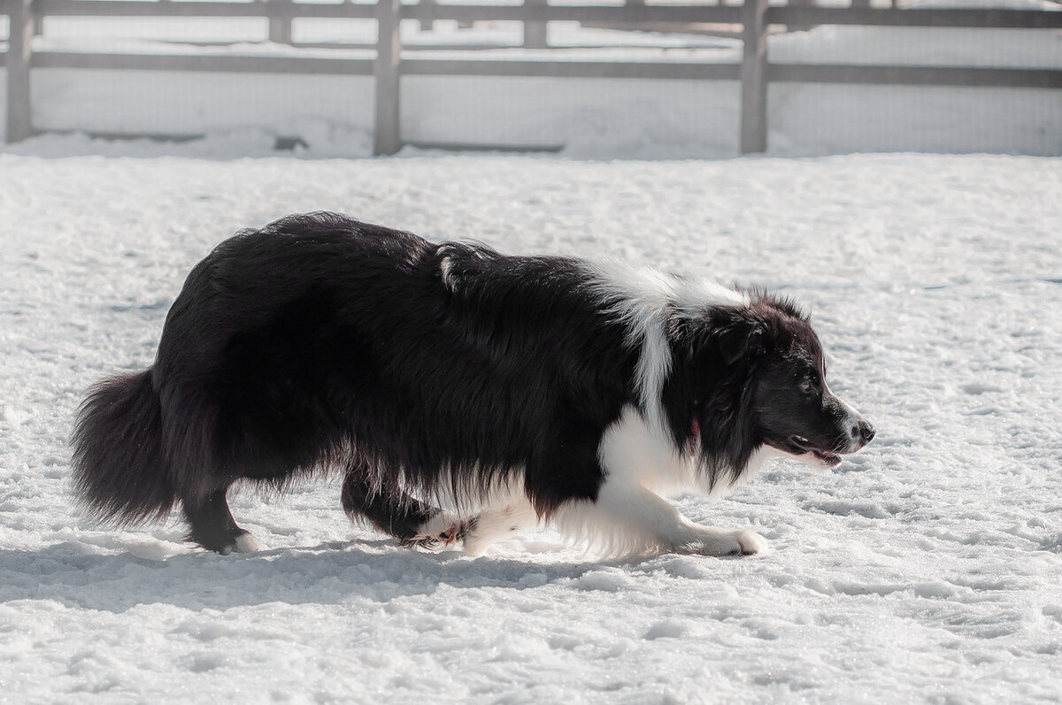
M0 550L0 602L54 600L68 607L121 613L140 604L227 609L269 602L387 602L432 595L441 586L526 589L576 580L601 562L469 558L415 553L388 541L336 541L220 556L189 552L160 560L99 553L66 541L39 550Z

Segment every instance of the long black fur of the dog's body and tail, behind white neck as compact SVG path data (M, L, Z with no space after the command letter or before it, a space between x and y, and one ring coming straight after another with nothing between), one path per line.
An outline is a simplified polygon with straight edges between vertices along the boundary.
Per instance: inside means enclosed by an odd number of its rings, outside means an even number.
M475 494L524 470L548 512L596 496L600 471L583 470L632 401L634 357L575 260L293 216L192 270L152 369L101 386L125 406L86 403L75 479L103 517L137 520L355 453L381 492ZM159 420L139 426L137 405ZM137 474L158 486L124 481Z

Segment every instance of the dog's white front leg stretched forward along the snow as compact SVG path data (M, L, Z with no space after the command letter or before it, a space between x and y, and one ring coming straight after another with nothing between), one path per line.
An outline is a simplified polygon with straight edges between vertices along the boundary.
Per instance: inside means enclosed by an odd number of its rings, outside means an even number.
M749 529L695 523L660 495L630 482L606 480L597 501L565 504L555 522L566 535L611 553L749 555L767 549L767 541Z

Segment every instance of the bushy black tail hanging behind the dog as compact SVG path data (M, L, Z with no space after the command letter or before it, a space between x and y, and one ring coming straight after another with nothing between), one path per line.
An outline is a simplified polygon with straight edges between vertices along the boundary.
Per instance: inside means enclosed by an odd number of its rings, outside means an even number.
M169 513L175 495L150 369L93 386L79 411L72 444L74 489L92 514L127 526Z

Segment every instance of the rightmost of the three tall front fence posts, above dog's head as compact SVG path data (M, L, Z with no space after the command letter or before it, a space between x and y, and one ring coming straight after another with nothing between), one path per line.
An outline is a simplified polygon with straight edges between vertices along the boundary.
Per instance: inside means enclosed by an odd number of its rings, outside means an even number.
M767 151L767 5L744 0L741 10L741 154Z

